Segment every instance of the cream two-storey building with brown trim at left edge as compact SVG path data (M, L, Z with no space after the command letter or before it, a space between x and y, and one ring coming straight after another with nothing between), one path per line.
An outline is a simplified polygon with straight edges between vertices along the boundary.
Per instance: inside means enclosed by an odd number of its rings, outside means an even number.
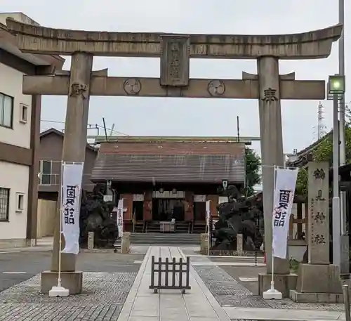
M24 247L37 238L41 97L23 95L23 74L61 68L51 55L22 53L6 17L37 25L22 13L0 13L0 248Z

